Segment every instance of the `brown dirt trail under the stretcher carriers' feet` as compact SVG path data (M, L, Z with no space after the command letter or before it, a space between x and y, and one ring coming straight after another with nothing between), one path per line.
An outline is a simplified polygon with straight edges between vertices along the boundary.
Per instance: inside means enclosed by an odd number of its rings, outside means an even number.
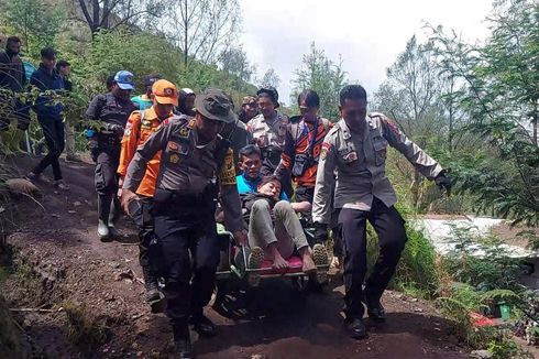
M35 160L19 157L21 174ZM69 192L40 184L45 209L24 199L18 209L25 221L10 243L45 280L29 290L10 278L1 289L12 307L44 307L52 313L21 314L34 350L45 357L81 357L65 337L66 303L84 305L87 315L110 328L110 339L87 356L94 358L167 358L172 333L163 315L143 304L135 230L128 222L121 242L101 243L95 235L96 194L90 164L66 164ZM131 276L133 271L134 278ZM231 320L208 308L219 335L195 338L198 358L465 358L449 324L421 301L388 292L388 323L371 326L369 339L355 341L341 330L342 283L333 280L323 293L302 297L286 281L254 292L254 318Z

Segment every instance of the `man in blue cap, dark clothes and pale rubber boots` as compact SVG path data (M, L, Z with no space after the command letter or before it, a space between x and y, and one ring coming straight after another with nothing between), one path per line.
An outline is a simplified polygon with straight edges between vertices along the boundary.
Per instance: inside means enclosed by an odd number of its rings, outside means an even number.
M96 162L96 191L98 193L98 236L101 240L118 237L114 219L118 216L117 202L118 176L121 139L128 118L136 110L130 100L134 89L133 74L121 70L114 76L114 85L110 93L96 96L86 111L92 126L97 128L97 145L91 151Z

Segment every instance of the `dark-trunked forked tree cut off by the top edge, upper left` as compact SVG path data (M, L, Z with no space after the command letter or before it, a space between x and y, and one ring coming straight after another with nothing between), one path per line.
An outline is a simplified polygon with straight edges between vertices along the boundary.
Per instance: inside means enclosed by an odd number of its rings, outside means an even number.
M100 30L136 24L144 18L157 18L166 0L77 0L92 36Z

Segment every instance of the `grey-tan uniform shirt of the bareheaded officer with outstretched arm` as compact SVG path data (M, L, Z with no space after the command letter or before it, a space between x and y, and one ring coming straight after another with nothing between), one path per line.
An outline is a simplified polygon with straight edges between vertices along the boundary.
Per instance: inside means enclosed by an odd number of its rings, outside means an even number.
M387 207L395 205L397 197L385 174L388 144L403 153L429 180L442 171L435 160L384 115L370 113L365 121L362 138L350 132L344 119L326 137L315 186L314 221L329 224L333 185L336 208L370 210L373 197L381 199Z

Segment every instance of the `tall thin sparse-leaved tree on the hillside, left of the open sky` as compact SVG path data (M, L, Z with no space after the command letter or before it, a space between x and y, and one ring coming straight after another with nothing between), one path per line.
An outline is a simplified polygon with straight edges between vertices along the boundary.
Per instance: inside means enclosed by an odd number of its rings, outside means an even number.
M212 63L238 36L241 11L238 0L174 0L165 20L168 34L184 54Z

